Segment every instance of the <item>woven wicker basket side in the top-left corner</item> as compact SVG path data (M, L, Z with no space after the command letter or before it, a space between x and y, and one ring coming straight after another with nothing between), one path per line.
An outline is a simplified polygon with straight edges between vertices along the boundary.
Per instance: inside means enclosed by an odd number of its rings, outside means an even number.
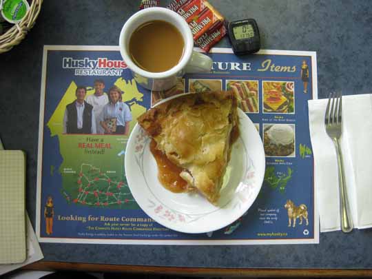
M0 53L7 52L14 45L21 43L27 32L34 26L41 9L41 3L43 0L32 0L30 10L25 18L0 36Z

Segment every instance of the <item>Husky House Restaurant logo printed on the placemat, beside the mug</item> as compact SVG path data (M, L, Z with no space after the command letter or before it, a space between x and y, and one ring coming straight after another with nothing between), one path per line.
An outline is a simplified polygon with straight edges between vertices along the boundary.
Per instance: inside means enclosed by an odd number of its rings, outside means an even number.
M75 76L121 76L127 64L123 60L109 60L107 58L73 59L63 57L63 69L73 69Z

